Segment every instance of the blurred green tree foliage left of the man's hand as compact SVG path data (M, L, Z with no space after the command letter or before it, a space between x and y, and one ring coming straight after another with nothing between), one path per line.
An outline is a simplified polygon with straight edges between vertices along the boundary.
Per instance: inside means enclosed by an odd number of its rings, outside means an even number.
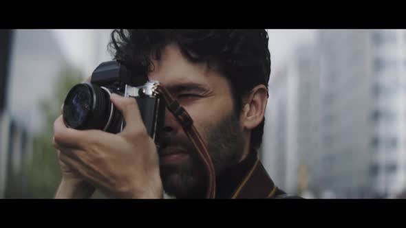
M25 176L27 177L27 197L53 198L61 181L56 150L52 145L54 121L61 115L61 106L67 92L74 84L83 81L81 71L65 66L54 81L53 95L40 102L45 126L43 131L33 137L32 159L25 159ZM29 161L30 160L30 161Z

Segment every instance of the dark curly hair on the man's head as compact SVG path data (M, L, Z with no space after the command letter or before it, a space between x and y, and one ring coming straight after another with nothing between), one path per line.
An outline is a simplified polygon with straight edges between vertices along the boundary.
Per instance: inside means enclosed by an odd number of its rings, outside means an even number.
M266 30L114 30L109 51L116 60L131 62L147 76L151 58L159 60L171 43L180 47L191 62L206 62L231 83L235 111L242 111L242 98L258 84L268 88L270 53ZM251 133L250 146L257 150L264 133L262 120Z

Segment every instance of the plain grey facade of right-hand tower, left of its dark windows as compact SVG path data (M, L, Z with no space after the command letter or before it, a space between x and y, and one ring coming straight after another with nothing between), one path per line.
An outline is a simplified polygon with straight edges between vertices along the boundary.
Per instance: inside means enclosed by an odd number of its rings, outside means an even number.
M317 34L321 151L311 182L321 195L358 198L371 192L369 34L367 30Z

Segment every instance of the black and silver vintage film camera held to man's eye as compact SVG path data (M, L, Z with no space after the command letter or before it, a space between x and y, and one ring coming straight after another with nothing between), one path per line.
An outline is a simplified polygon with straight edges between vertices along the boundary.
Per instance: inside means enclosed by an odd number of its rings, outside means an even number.
M159 82L135 74L116 60L102 62L92 73L90 83L76 84L67 93L63 105L65 125L120 133L125 121L110 101L111 93L117 93L136 99L147 132L159 146L165 113L164 99L156 89Z

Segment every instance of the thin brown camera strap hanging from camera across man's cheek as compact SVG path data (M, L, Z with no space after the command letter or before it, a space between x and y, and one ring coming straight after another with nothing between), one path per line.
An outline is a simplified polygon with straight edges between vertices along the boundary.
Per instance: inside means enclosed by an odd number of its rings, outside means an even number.
M162 85L158 85L157 91L162 95L167 105L169 111L175 116L180 125L182 126L184 133L189 137L195 146L200 159L202 160L204 167L208 174L208 188L206 192L206 198L215 198L215 170L213 166L213 161L209 155L209 151L204 145L202 137L197 132L197 129L193 125L193 119L190 117L189 113L180 106L180 104L173 99L171 93Z

